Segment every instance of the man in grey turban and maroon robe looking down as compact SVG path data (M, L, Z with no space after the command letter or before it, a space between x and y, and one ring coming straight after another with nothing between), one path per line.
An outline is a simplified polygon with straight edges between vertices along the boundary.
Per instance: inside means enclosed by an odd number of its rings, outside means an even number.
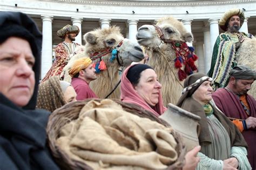
M256 101L247 94L256 79L255 70L238 65L230 71L230 81L225 88L212 94L217 107L229 117L244 136L248 144L248 159L252 169L256 168Z

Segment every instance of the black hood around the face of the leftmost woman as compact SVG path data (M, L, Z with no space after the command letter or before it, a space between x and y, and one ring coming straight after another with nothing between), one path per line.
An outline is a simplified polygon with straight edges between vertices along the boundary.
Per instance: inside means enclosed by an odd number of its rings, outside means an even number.
M27 105L23 109L35 109L39 76L41 71L42 33L35 22L21 12L0 12L0 44L9 37L19 37L29 41L36 62L33 66L35 72L35 89Z

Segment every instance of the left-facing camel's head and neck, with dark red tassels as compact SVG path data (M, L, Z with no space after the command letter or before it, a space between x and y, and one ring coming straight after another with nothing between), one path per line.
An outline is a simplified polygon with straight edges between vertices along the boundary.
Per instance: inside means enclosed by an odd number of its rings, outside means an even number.
M143 25L139 27L136 37L149 55L147 65L154 68L158 80L162 84L161 93L164 105L176 104L183 90L184 79L188 74L197 70L194 65L197 56L193 54L193 48L188 48L185 43L193 41L192 33L188 32L183 23L177 19L165 17L159 19L156 26ZM191 59L186 60L185 58L184 61L184 58L177 58L178 49L184 49L184 51L181 50L181 53L189 53ZM191 65L185 67L185 63Z

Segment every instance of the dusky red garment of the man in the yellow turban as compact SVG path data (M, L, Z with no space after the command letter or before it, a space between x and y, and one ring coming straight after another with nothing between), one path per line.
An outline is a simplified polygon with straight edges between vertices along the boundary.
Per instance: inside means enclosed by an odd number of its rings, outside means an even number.
M89 84L80 78L72 78L71 85L77 93L76 99L78 101L85 100L86 98L98 98L96 94L89 87Z

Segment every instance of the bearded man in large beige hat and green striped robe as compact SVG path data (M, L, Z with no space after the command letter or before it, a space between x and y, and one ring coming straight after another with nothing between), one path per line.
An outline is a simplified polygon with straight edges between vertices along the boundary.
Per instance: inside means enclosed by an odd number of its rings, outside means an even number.
M235 53L245 37L252 38L252 34L239 32L244 23L245 15L240 9L231 9L224 13L219 20L219 26L226 31L221 33L213 47L211 68L208 76L213 78L213 90L225 87L228 73L237 65Z

